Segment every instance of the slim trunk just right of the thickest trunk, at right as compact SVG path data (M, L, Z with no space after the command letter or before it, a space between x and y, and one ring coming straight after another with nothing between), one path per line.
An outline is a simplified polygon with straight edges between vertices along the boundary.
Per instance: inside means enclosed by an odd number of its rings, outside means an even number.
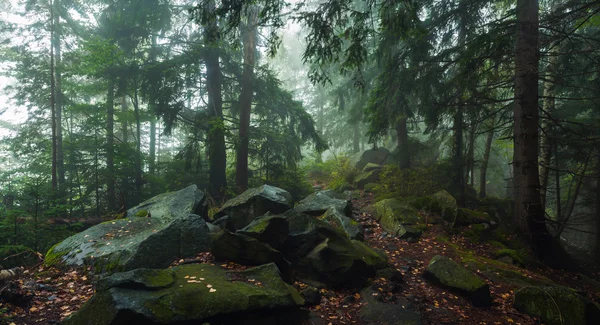
M548 172L552 150L550 148L549 137L551 134L550 116L555 107L555 82L556 68L558 64L558 44L553 44L548 51L548 66L546 66L545 81L544 81L544 99L542 107L544 113L541 119L542 133L540 135L540 196L542 207L546 210L546 193L548 190Z

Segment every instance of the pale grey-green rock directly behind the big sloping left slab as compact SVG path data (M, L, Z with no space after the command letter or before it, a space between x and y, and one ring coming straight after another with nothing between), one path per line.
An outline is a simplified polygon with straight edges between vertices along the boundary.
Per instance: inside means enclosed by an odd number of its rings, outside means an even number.
M189 214L207 217L208 206L204 192L190 185L176 192L157 195L127 210L127 218L139 218L150 214L152 219L171 221Z

